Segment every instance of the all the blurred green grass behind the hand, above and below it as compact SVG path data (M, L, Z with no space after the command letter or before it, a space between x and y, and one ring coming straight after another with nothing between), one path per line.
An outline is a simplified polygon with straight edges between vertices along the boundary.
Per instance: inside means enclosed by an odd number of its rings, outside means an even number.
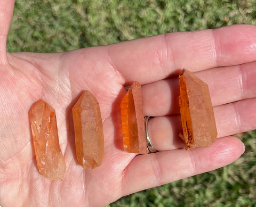
M255 11L254 0L17 0L7 51L63 52L165 32L256 24ZM246 151L227 167L109 206L256 206L256 130L237 136Z

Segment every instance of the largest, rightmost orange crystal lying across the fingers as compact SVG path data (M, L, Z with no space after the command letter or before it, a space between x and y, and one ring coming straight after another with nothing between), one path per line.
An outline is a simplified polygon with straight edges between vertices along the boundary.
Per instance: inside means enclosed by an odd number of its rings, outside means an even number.
M207 84L183 69L179 75L180 115L186 149L208 147L215 142L217 128Z

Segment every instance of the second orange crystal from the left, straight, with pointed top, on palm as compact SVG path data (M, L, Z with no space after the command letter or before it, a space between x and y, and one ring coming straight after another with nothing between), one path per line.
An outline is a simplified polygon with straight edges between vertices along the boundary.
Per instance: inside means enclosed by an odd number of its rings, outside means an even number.
M73 107L76 157L85 169L101 165L104 137L99 103L85 90Z

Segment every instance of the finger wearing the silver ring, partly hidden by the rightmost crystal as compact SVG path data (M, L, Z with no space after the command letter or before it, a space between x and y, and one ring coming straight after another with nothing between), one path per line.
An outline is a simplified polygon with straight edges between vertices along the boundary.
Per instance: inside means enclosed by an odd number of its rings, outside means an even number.
M256 129L256 98L215 106L217 137ZM148 121L148 133L153 146L159 150L183 148L180 115L155 117Z

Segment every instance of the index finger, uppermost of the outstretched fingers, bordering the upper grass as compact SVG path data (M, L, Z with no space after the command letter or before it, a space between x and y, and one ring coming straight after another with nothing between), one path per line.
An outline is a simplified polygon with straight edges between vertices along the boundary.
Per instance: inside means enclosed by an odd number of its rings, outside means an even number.
M147 84L186 68L191 72L255 61L256 27L234 25L175 32L105 48L126 81Z

